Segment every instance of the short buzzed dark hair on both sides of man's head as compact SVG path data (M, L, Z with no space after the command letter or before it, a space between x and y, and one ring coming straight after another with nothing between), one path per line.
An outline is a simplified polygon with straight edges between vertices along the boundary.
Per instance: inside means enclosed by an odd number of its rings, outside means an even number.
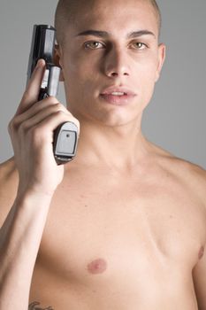
M158 24L158 32L160 34L162 26L162 17L156 0L147 0L154 8ZM65 39L65 26L69 22L74 22L75 7L78 5L77 0L58 0L55 13L55 27L57 29L57 43L63 44Z

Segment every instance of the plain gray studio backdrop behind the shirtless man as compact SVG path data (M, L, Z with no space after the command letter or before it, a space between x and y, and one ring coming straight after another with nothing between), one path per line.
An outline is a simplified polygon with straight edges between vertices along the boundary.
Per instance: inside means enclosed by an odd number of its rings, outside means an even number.
M158 4L167 58L144 112L142 130L149 141L206 168L206 0L159 0ZM56 5L56 0L0 2L0 162L13 154L7 124L25 89L33 25L53 24ZM63 86L58 98L65 103Z

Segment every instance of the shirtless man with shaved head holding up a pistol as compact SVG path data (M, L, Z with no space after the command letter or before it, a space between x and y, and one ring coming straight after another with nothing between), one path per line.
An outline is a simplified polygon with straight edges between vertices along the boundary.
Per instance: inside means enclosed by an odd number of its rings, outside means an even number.
M69 112L36 104L41 60L0 170L0 310L206 309L206 172L141 133L164 63L158 14L153 0L59 2ZM68 120L78 153L57 166Z

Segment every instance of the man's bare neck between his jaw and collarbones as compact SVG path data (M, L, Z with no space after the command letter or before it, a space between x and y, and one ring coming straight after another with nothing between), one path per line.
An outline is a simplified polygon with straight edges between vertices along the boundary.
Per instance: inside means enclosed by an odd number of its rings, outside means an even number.
M80 122L80 139L75 162L78 164L130 169L145 159L150 143L138 122L111 127Z

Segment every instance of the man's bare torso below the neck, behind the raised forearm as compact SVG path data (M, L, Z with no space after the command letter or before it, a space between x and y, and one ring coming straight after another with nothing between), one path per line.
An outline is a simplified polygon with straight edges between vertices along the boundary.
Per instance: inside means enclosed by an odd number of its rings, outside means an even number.
M121 173L68 165L50 205L30 309L197 309L192 273L206 242L201 168L154 150ZM8 210L13 167L2 167Z

